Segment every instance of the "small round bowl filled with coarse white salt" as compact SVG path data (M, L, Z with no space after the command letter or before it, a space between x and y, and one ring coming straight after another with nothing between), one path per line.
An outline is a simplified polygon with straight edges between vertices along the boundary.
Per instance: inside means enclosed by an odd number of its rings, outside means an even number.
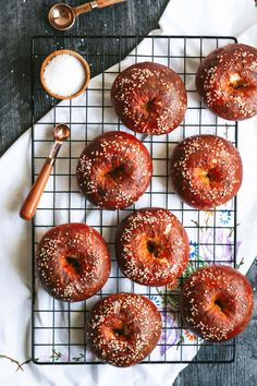
M50 53L41 65L40 81L48 94L57 99L72 99L87 87L90 70L77 52L58 50Z

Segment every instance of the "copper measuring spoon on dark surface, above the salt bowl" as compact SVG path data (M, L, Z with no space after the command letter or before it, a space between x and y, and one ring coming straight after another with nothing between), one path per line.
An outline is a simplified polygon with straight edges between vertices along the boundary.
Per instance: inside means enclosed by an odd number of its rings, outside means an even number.
M95 8L105 8L123 1L126 0L95 0L76 8L72 8L64 3L58 3L50 9L48 20L53 28L65 31L73 26L76 16L79 14L90 12Z

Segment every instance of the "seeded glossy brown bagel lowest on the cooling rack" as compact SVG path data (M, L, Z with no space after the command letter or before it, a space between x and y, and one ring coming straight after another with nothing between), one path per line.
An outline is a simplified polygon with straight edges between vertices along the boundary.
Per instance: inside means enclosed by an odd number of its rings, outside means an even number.
M157 346L161 316L156 305L135 293L117 293L93 309L87 340L96 355L119 367L132 366Z

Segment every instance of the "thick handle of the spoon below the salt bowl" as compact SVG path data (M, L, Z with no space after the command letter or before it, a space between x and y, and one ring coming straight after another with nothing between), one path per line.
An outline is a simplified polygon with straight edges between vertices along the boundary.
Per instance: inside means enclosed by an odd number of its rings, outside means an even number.
M20 216L26 221L29 221L35 215L47 181L51 174L52 166L53 159L47 158L40 173L37 177L37 180L21 207Z

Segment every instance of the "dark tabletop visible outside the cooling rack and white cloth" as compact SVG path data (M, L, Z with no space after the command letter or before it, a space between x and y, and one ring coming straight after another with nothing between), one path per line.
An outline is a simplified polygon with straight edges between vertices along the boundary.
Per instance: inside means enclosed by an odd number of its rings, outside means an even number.
M54 1L0 0L0 155L29 126L30 37L53 33L46 19L47 10L52 3ZM70 1L72 5L79 3L82 1ZM71 33L74 35L147 34L158 27L158 20L167 3L168 0L128 0L126 3L81 16ZM257 262L248 273L253 287L257 286L256 276ZM179 375L174 385L257 385L256 318L255 311L254 319L245 333L237 338L234 363L188 365Z

